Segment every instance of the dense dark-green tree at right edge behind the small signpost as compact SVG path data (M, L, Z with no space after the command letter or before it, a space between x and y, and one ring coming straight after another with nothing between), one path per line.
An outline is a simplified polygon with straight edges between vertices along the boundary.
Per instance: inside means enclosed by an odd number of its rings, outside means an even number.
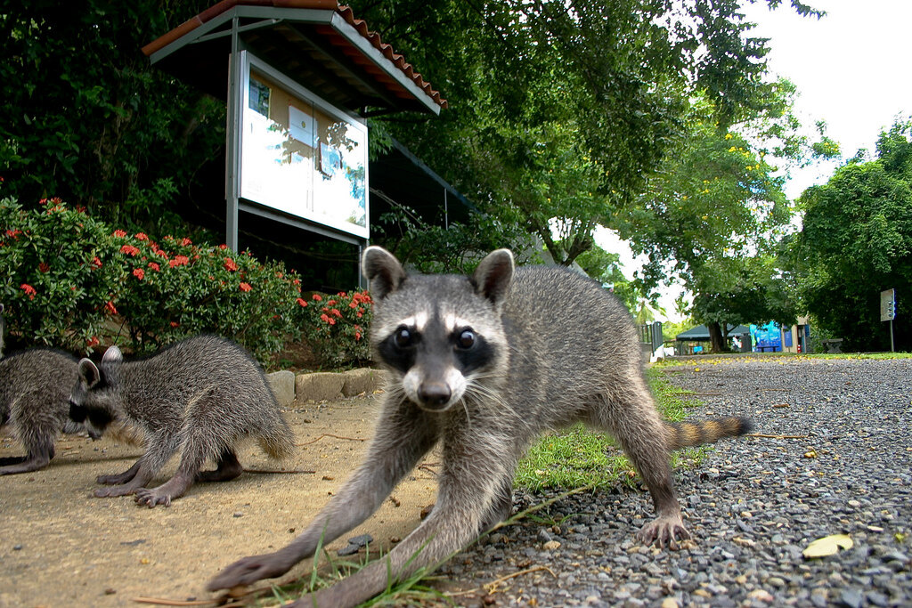
M896 289L896 345L912 347L912 119L881 133L877 158L850 160L804 191L803 230L791 253L801 304L852 350L886 350L879 297Z

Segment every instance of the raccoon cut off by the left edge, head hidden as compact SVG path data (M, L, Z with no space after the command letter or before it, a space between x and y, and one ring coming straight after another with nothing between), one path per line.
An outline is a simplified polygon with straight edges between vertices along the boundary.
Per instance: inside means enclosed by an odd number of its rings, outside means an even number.
M0 459L0 475L13 475L47 467L54 458L57 435L85 428L68 416L69 388L77 378L76 357L51 348L4 357L3 309L0 304L0 426L12 426L26 448L24 457Z

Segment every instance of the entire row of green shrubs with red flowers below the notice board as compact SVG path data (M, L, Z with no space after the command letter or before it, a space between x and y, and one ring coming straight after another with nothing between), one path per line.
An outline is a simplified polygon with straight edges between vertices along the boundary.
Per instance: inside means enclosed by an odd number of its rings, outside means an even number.
M40 211L0 201L0 226L0 302L8 331L28 345L85 352L106 330L148 353L205 332L260 360L302 336L324 365L369 357L366 292L305 296L281 263L114 230L57 200Z

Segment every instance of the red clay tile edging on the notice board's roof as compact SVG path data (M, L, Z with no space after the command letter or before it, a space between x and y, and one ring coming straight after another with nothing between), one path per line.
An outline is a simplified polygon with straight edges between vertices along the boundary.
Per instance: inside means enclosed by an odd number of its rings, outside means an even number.
M181 36L185 36L197 27L202 26L202 24L211 20L213 17L222 15L235 6L272 6L275 8L308 8L335 11L345 19L348 25L353 26L358 31L358 34L366 38L371 46L378 49L383 57L386 57L391 61L393 65L401 70L406 77L418 86L418 88L423 90L428 97L433 99L434 103L438 104L440 108L448 107L447 100L440 97L439 91L431 88L430 82L427 82L421 77L420 73L416 72L414 67L406 62L405 57L396 53L392 46L383 42L377 32L370 31L370 29L368 29L368 24L363 19L356 19L349 6L339 5L336 0L222 0L218 4L212 5L202 11L199 15L183 22L180 26L175 27L164 36L160 36L148 45L143 46L142 52L149 57L156 51L161 50L161 48L168 46L175 40L181 38ZM330 26L326 27L327 29L331 29Z

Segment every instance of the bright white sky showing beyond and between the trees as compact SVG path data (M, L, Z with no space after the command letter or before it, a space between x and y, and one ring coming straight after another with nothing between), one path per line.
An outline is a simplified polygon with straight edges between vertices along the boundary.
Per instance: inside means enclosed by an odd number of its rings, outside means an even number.
M857 149L875 151L882 129L897 117L912 115L912 0L804 0L826 11L821 19L802 17L790 0L774 11L765 0L742 0L747 20L757 24L752 36L768 37L767 56L773 77L798 88L798 117L809 128L826 122L826 134L837 141L845 159ZM825 182L839 163L793 170L786 184L789 198ZM619 252L629 277L643 263L610 231L596 232L596 242ZM673 321L680 288L662 288L659 304ZM665 319L659 319L665 320Z

